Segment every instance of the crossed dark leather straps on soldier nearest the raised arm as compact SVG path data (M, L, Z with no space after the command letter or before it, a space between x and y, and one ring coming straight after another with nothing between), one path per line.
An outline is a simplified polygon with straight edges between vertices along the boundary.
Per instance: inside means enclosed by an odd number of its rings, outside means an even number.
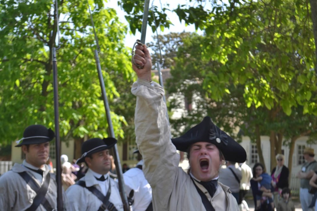
M113 205L113 203L111 203L109 201L110 198L110 194L111 194L111 184L110 184L110 178L109 179L109 188L108 188L108 192L107 195L104 196L98 189L96 189L94 186L91 187L87 187L86 186L86 182L79 180L76 182L77 185L80 185L81 187L87 188L90 192L92 192L100 201L102 201L102 204L100 206L100 208L98 209L98 211L104 211L106 209L108 209L109 211L117 211L117 209L115 208L115 206Z

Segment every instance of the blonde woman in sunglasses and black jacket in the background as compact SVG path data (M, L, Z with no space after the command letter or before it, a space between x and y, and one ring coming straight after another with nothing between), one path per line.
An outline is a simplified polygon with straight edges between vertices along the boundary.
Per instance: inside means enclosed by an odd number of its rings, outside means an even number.
M281 192L283 188L288 188L288 176L289 170L284 165L284 155L277 154L276 158L276 167L272 170L272 187L273 187L273 196L274 204L277 205L279 199L281 198Z

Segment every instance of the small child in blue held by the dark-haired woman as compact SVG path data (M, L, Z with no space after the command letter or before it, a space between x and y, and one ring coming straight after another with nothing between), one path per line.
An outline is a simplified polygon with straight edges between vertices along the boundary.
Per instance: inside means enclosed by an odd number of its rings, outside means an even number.
M260 190L262 192L267 192L267 193L271 192L271 189L272 189L272 185L271 185L272 177L270 175L268 175L268 173L262 173L257 178L252 178L252 180L257 181L257 182L260 183L260 185L261 185ZM266 197L256 196L256 210L260 209L260 207L261 207L261 198L265 198L265 200L266 200ZM272 197L267 197L267 200L270 203L272 209L274 209L273 194L272 194Z

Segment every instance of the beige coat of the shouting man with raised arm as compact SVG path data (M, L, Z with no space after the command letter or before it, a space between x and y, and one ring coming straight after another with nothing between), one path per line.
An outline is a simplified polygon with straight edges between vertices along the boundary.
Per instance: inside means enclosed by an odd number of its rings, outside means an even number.
M163 88L155 82L138 79L131 91L137 96L136 142L144 159L143 172L152 187L154 210L206 210L191 177L178 167L179 154L170 139ZM212 198L202 185L197 186L215 210L239 210L227 186L218 182Z

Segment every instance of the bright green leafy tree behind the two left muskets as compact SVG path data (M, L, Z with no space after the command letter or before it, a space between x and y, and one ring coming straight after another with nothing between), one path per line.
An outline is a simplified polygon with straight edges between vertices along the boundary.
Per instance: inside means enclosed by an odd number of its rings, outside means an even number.
M31 124L54 128L51 50L57 41L53 1L0 1L0 135L2 143L22 137ZM100 44L100 65L110 110L120 98L116 80L130 81L133 71L127 32L103 1L89 1ZM94 60L94 40L86 1L58 1L61 43L57 50L60 130L69 137L107 136L107 120ZM125 118L111 113L116 136Z

